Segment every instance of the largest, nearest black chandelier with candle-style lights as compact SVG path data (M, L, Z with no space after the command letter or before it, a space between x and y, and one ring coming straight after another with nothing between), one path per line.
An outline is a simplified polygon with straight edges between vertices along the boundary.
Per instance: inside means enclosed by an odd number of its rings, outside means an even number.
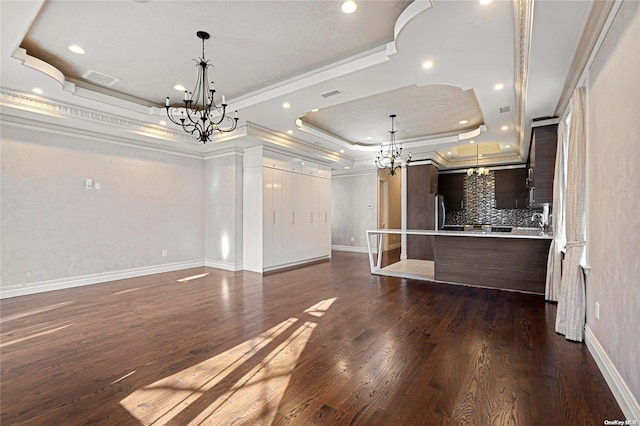
M202 57L194 59L198 68L196 86L193 92L184 91L184 107L172 106L167 96L165 108L171 122L181 126L185 132L197 136L200 142L207 143L211 141L211 134L214 131L226 133L235 130L238 125L238 111L236 111L235 117L228 117L224 96L222 96L222 104L219 106L213 100L216 91L213 88L213 81L209 85L207 78L207 70L209 67L213 68L213 65L204 57L204 41L208 40L210 36L204 31L198 31L196 35L202 40ZM228 126L221 127L220 124L225 120Z

